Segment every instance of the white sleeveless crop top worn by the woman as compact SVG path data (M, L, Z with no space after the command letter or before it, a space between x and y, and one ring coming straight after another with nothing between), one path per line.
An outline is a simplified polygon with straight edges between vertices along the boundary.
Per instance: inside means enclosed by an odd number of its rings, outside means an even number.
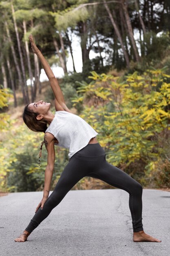
M69 148L69 158L98 134L84 119L64 110L55 112L46 132L52 133L58 140L59 143L55 145Z

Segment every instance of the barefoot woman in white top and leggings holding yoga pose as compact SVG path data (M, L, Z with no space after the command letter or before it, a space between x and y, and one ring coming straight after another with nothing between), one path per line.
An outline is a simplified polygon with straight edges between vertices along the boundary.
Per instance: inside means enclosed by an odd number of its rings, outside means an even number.
M50 103L38 101L27 105L24 109L25 124L33 131L44 132L44 141L48 152L45 170L44 194L24 232L15 242L24 242L31 232L49 215L83 177L94 177L129 193L129 208L132 216L134 242L161 242L147 235L142 225L142 187L124 171L106 161L106 153L96 139L98 134L81 117L74 115L67 108L60 86L46 59L36 47L32 35L29 36L34 54L40 59L55 96L55 115L50 110ZM47 126L49 125L49 126ZM55 162L55 148L69 148L69 162L65 166L57 185L49 196ZM39 157L40 159L40 157Z

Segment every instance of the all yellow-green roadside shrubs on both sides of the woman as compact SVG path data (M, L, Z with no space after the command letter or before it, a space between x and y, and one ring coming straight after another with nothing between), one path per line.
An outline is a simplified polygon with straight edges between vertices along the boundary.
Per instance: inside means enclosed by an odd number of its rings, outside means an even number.
M127 76L91 72L86 83L78 82L72 106L98 133L107 161L129 173L146 187L170 186L170 76L163 70L147 70ZM69 84L65 85L69 89ZM75 90L75 89L74 89ZM66 93L66 91L65 91ZM70 92L68 93L68 95ZM69 97L69 96L66 97ZM2 131L0 142L0 190L38 191L43 189L47 152L39 146L43 134L14 123ZM54 188L68 149L55 147ZM85 189L89 179L76 188Z

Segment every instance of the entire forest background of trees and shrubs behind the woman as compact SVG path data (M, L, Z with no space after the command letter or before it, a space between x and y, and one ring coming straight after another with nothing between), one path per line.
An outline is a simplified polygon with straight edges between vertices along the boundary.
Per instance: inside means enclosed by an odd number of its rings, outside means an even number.
M63 69L66 105L99 133L107 161L145 188L170 188L170 1L8 0L0 1L0 14L0 191L41 191L44 184L44 135L23 124L22 111L41 99L55 111L54 98L49 82L40 82L29 34L50 65ZM68 163L68 149L55 151L51 189ZM73 189L107 188L84 177Z

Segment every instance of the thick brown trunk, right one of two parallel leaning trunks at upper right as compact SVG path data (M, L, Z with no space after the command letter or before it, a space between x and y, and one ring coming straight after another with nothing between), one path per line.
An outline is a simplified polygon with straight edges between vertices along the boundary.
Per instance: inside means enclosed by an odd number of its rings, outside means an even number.
M135 39L134 39L134 36L133 36L133 30L132 30L132 25L131 25L131 22L130 22L130 17L129 17L129 13L128 13L128 7L127 7L126 0L121 0L121 6L124 10L126 24L127 24L127 27L128 27L128 33L129 33L129 36L130 36L130 40L132 42L132 46L133 46L133 50L134 50L134 53L135 53L136 61L140 62L140 56L139 56L139 52L138 52L136 42L135 42Z

